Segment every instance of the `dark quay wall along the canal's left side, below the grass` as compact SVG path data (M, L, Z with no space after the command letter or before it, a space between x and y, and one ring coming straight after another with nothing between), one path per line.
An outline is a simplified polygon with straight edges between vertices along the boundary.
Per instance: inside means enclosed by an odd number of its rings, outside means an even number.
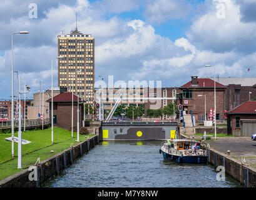
M0 187L41 187L52 177L58 176L63 169L73 164L74 160L90 151L99 142L99 135L96 135L93 136L93 138L76 144L75 146L52 156L51 158L41 161L40 164L35 166L36 168L34 171L38 174L38 179L36 181L29 181L29 174L32 171L24 169L23 171L0 181Z

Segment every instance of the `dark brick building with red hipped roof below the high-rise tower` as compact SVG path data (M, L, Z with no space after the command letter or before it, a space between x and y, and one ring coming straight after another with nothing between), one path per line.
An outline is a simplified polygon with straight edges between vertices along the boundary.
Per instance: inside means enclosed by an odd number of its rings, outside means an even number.
M77 127L77 110L79 103L82 99L76 95L73 95L73 127L74 131ZM47 101L49 103L49 116L51 118L51 99ZM71 131L71 116L72 116L72 93L64 92L54 96L53 98L53 124L59 128ZM79 104L79 126L82 126L83 121L83 104Z

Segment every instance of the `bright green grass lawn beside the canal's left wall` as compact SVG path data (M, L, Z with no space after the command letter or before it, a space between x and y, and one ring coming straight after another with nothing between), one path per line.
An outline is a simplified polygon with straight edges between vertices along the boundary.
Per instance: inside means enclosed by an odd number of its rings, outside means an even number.
M18 133L14 133L14 136L18 137ZM89 135L90 137L94 135ZM11 134L0 134L0 180L18 173L22 169L17 169L18 164L18 143L14 143L14 159L11 157L11 141L6 141L4 138L11 137ZM32 130L23 133L23 139L31 141L29 144L22 146L23 169L29 168L29 166L36 163L36 160L40 158L41 161L47 159L54 154L57 154L71 146L71 143L76 144L77 133L73 133L71 138L71 131L66 131L61 128L54 128L53 139L54 143L51 143L51 128L44 130ZM84 135L79 135L80 142L85 140ZM54 151L51 154L51 150Z

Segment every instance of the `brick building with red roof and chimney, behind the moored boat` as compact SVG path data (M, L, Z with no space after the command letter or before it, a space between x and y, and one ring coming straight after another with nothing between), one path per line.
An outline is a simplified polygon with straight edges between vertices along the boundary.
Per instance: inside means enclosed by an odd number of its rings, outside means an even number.
M225 89L226 86L216 81L216 119L225 119ZM195 119L204 120L205 116L205 99L207 118L210 109L214 109L214 81L209 78L198 78L192 76L192 80L180 87L182 91L183 110L187 114L192 111ZM202 95L202 96L198 96Z

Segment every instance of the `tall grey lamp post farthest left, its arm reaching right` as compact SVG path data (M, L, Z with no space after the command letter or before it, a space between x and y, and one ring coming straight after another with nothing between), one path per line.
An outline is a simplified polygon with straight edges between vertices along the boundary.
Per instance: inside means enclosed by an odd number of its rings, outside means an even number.
M14 157L14 103L13 103L13 35L28 34L28 31L12 32L11 34L11 152Z

